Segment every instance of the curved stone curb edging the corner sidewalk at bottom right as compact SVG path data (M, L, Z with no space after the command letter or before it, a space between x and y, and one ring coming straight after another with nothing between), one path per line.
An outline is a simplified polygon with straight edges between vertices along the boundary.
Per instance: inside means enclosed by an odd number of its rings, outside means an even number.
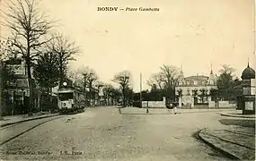
M226 157L229 157L230 159L235 159L235 160L241 160L241 158L234 156L233 154L231 154L228 151L225 151L222 148L217 147L216 145L214 145L213 143L209 142L208 140L204 139L204 137L201 136L201 132L206 131L206 129L202 129L199 131L199 139L202 140L203 142L205 142L208 146L210 146L211 148L216 149L217 151L219 151L220 153L222 153L223 155L225 155Z

